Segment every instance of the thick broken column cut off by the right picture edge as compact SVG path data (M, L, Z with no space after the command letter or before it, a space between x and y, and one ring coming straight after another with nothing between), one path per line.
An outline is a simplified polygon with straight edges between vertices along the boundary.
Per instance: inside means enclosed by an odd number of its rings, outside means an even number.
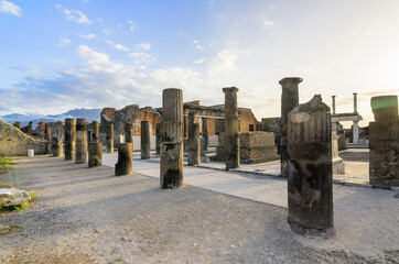
M398 96L371 98L375 122L369 124L370 184L381 188L399 186Z

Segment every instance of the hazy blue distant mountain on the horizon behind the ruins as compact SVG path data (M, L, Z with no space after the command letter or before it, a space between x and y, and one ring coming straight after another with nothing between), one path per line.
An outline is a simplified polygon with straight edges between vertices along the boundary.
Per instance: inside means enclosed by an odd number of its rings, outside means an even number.
M30 121L33 121L33 128L37 125L39 122L55 122L64 121L66 118L85 118L87 122L100 121L100 113L103 109L74 109L61 114L21 114L21 113L11 113L7 116L0 116L0 119L13 124L19 121L22 123L22 127L29 124Z

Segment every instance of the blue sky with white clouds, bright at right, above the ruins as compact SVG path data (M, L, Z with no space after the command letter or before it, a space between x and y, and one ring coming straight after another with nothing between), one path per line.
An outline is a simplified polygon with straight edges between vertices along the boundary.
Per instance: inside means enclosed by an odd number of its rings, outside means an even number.
M373 119L370 97L398 95L397 0L0 0L0 114L75 108L238 103L280 114L281 86L303 78L337 112ZM363 123L364 125L365 123Z

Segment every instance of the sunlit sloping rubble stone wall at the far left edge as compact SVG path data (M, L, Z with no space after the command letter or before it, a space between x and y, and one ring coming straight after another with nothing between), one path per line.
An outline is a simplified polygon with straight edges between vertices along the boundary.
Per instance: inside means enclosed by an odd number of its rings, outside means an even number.
M26 156L30 148L34 154L47 154L47 141L26 135L0 120L0 156Z

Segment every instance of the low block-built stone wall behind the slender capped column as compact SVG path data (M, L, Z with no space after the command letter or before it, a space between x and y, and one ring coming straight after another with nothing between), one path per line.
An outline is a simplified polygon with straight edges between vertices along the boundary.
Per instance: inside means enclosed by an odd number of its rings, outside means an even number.
M244 164L265 163L279 160L272 132L240 132L240 162ZM219 134L216 156L213 161L225 161L225 133Z

